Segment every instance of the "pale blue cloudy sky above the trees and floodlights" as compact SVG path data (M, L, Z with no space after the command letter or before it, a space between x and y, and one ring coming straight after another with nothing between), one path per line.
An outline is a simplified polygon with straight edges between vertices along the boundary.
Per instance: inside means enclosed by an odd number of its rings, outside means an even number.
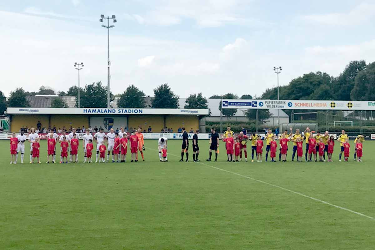
M1 91L41 85L67 91L134 84L146 95L168 83L181 98L199 93L261 96L304 73L337 76L351 60L375 61L375 0L37 0L0 5Z

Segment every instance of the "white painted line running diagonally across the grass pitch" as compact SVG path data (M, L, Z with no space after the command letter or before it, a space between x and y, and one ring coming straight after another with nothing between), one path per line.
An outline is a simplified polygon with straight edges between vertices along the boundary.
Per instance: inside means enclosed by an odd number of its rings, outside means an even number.
M148 148L148 149L157 151L156 149L153 149L153 148ZM170 154L170 153L168 153L168 154ZM175 157L180 157L180 156L177 156L175 154L170 154L170 155L175 156ZM244 177L244 178L247 178L247 179L250 179L250 180L253 180L253 181L257 181L259 183L263 183L263 184L266 184L266 185L269 185L269 186L272 186L272 187L277 187L278 189L282 189L282 190L288 191L290 193L294 193L296 195L300 195L300 196L303 196L305 198L309 198L309 199L312 199L314 201L318 201L318 202L321 202L323 204L326 204L326 205L329 205L329 206L332 206L332 207L335 207L335 208L339 208L341 210L345 210L345 211L348 211L350 213L357 214L357 215L366 217L366 218L371 219L371 220L375 220L374 217L368 216L366 214L362 214L362 213L359 213L357 211L350 210L348 208L344 208L344 207L341 207L341 206L329 203L327 201L323 201L323 200L320 200L320 199L317 199L317 198L314 198L314 197L311 197L311 196L308 196L308 195L304 195L303 193L299 193L299 192L296 192L296 191L293 191L293 190L290 190L290 189L286 189L285 187L281 187L281 186L278 186L278 185L275 185L275 184L272 184L272 183L268 183L266 181L258 180L258 179L255 179L255 178L252 178L252 177L249 177L249 176L246 176L246 175L242 175L242 174L239 174L239 173L236 173L236 172L228 171L228 170L225 170L225 169L222 169L222 168L217 168L217 167L214 167L214 166L210 166L210 165L207 165L207 164L202 163L202 162L197 162L197 163L202 164L202 165L207 166L207 167L210 167L210 168L214 168L214 169L220 170L220 171L228 172L230 174L238 175L240 177Z

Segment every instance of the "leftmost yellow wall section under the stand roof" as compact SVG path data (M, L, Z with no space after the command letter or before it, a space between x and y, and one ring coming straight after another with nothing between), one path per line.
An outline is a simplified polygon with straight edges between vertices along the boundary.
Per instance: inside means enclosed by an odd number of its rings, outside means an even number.
M36 124L40 121L42 127L48 127L48 115L12 115L10 121L10 131L19 132L21 127L36 128Z

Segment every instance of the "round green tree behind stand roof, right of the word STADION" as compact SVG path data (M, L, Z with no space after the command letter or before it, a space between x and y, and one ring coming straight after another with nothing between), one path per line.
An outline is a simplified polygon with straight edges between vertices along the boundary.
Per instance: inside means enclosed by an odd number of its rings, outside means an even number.
M162 84L154 89L152 108L179 108L178 96L173 93L168 84Z

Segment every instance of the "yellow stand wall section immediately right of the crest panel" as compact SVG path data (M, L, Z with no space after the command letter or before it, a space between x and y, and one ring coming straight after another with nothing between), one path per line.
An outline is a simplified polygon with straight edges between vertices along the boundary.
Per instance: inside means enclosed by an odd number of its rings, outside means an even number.
M163 115L129 115L128 118L129 129L138 128L140 126L147 131L148 126L151 126L153 132L160 132L164 127Z

